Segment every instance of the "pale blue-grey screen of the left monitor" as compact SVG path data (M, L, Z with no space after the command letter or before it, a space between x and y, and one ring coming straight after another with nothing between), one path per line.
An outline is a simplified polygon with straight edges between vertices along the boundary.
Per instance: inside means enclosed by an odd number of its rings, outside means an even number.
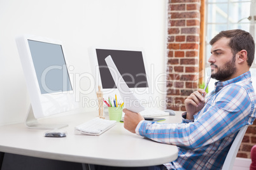
M28 40L41 94L71 91L62 46Z

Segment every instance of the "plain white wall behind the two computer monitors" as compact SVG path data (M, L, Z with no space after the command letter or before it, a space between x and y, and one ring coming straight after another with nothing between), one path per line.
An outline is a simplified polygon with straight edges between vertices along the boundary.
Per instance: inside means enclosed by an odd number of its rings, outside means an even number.
M0 0L0 125L24 121L30 104L16 36L64 42L66 60L75 68L71 74L90 74L87 49L108 45L144 48L148 65L159 75L166 72L166 8L166 1L159 0ZM87 78L80 80L83 89L92 85ZM96 98L95 91L80 98ZM164 100L157 91L155 96Z

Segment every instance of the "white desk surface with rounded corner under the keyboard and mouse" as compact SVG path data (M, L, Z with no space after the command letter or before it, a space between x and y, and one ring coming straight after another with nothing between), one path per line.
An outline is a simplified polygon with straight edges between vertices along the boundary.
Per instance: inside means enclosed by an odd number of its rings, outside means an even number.
M124 129L118 122L100 136L77 135L78 124L97 116L97 112L65 115L40 122L69 124L67 137L46 138L45 129L28 129L24 123L0 127L0 151L11 154L66 160L105 166L153 166L171 162L178 157L178 148L148 140ZM164 122L181 122L181 113L167 116Z

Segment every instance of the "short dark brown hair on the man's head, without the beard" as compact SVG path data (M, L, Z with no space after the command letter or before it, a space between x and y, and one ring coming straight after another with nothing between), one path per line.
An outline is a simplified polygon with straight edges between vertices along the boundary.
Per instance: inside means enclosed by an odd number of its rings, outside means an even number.
M245 30L223 30L217 36L211 39L210 44L213 45L222 37L230 38L229 46L231 47L233 55L236 55L236 53L242 49L247 51L247 63L249 67L251 67L255 53L255 44L252 35Z

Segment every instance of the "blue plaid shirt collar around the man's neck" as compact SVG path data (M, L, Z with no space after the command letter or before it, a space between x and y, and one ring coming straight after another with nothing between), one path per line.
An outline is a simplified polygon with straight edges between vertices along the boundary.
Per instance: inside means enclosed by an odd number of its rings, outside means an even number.
M236 83L239 81L243 81L245 79L250 79L251 78L251 72L245 72L244 74L239 75L238 77L234 77L234 79L230 79L228 81L217 81L215 82L215 91L220 91L222 88L225 86Z

